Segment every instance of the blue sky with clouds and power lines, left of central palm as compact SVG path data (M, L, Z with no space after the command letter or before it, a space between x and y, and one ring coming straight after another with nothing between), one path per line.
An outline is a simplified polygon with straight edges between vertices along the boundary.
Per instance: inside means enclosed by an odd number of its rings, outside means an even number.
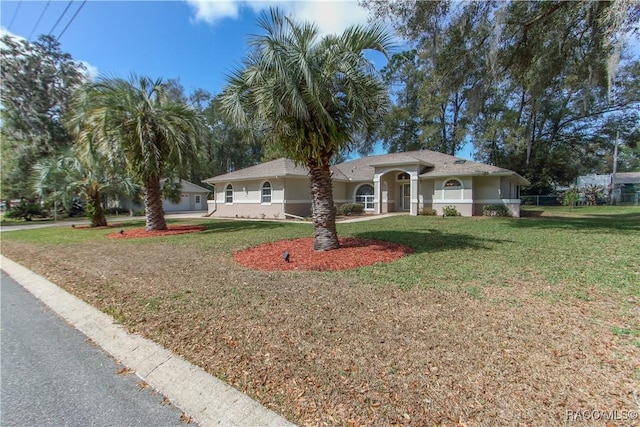
M94 74L179 78L187 93L206 89L217 94L226 76L241 65L250 35L260 32L259 13L273 5L315 21L323 33L365 24L368 16L355 0L2 0L0 16L3 32L30 41L40 34L58 37L62 51L88 64Z

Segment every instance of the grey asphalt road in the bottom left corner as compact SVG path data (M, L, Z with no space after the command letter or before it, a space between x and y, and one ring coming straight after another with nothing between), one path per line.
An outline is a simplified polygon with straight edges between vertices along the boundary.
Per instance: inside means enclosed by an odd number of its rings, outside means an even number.
M139 389L135 374L4 271L0 292L1 426L182 426L182 411Z

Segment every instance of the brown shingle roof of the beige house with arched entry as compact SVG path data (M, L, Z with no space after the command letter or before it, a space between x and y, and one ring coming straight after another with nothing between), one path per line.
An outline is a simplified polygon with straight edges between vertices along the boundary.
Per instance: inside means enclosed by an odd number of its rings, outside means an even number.
M514 176L521 185L529 182L517 173L497 166L473 162L455 156L431 150L408 151L405 153L381 154L361 157L340 163L332 167L333 179L339 181L373 181L376 166L420 165L423 169L421 178L446 176L494 175ZM308 169L288 159L277 159L261 163L246 169L206 179L204 182L216 183L245 179L273 178L275 176L307 177Z

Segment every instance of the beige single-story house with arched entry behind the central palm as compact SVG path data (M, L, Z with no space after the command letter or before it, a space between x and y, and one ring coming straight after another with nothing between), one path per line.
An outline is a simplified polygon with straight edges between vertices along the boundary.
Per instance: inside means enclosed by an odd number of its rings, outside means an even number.
M357 202L373 214L423 208L442 214L455 206L463 216L482 215L485 205L505 205L520 216L520 186L529 182L508 169L435 151L363 157L332 167L336 205ZM215 186L208 212L216 217L309 216L307 168L277 159L204 180Z

